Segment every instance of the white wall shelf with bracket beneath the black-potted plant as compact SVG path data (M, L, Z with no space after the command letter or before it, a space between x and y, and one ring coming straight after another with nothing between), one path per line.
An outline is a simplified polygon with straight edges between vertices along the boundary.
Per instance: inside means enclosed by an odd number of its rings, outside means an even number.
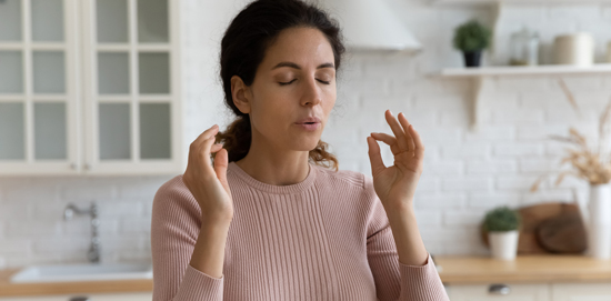
M542 76L562 77L570 74L611 74L611 63L598 63L590 67L575 67L564 64L549 64L534 67L480 67L480 68L448 68L441 70L438 76L443 78L465 78L472 80L471 96L471 130L478 131L481 120L482 91L493 77L515 76Z

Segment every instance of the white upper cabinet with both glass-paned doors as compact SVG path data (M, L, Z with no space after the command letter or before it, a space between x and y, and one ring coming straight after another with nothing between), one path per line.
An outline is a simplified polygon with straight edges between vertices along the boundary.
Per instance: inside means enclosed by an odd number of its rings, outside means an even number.
M0 174L181 172L178 0L0 1Z

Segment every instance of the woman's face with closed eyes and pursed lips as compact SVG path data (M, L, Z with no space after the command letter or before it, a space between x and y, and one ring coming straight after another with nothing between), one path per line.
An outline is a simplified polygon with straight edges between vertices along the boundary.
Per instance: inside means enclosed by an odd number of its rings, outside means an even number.
M268 48L249 90L253 140L296 151L314 149L335 104L331 44L318 29L283 30ZM308 117L320 123L298 124Z

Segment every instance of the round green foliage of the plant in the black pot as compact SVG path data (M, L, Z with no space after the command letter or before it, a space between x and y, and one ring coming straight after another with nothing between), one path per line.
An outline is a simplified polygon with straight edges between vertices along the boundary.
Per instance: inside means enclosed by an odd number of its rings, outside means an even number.
M477 20L471 20L455 29L453 42L457 49L473 52L488 48L491 36L490 29Z

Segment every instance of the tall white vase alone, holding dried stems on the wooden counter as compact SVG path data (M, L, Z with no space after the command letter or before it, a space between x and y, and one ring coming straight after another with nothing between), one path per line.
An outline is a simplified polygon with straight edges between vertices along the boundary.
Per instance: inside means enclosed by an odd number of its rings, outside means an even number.
M588 203L588 253L611 258L611 184L591 184Z

